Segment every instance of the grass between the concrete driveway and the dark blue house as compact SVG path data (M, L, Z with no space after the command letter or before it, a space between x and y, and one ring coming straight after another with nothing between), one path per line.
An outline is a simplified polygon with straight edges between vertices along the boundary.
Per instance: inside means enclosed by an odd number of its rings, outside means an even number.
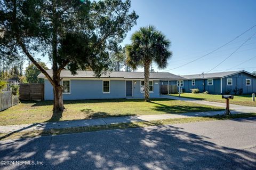
M173 96L179 96L179 94L171 94ZM203 93L181 93L182 98L198 99L211 102L225 103L225 99L221 99L219 94L203 94ZM238 104L242 106L256 106L256 102L252 101L251 94L235 95L233 100L230 100L231 104Z

